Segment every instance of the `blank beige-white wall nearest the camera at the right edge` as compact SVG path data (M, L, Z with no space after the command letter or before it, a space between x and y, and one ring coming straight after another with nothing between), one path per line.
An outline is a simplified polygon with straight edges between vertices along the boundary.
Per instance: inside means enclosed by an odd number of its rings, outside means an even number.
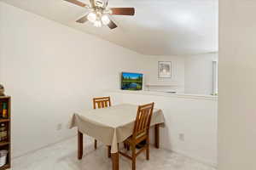
M256 1L219 1L218 169L256 169Z

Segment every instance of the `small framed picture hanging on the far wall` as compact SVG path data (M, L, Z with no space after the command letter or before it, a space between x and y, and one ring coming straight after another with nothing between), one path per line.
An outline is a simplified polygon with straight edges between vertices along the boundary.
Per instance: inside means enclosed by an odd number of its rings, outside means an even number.
M158 62L158 77L172 78L172 62L171 61Z

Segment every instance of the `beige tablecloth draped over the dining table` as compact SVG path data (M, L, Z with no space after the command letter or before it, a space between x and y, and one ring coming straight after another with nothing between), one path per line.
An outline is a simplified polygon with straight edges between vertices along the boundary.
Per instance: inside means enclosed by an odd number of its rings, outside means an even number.
M78 127L81 133L100 140L103 144L111 145L111 153L118 151L118 143L131 136L137 116L137 105L113 105L104 109L96 109L74 113L69 128ZM164 124L163 113L154 109L151 126Z

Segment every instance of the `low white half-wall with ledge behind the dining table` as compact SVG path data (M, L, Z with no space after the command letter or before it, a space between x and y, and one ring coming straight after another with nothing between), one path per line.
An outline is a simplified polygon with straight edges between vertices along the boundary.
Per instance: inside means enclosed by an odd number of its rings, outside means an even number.
M166 127L160 129L160 147L217 166L217 97L120 90L106 94L113 99L113 105L154 101L166 119ZM179 139L180 133L184 141Z

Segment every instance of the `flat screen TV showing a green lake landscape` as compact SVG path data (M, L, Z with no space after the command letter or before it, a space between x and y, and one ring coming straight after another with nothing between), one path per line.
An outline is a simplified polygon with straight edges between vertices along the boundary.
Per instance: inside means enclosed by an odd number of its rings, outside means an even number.
M121 89L123 90L142 90L143 74L122 72Z

